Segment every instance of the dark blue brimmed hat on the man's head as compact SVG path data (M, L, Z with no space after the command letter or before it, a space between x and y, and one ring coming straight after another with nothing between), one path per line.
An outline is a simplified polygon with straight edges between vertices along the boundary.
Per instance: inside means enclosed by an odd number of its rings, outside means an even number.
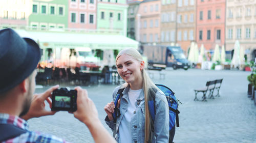
M0 93L6 92L37 67L40 48L29 38L21 38L11 28L0 31Z

